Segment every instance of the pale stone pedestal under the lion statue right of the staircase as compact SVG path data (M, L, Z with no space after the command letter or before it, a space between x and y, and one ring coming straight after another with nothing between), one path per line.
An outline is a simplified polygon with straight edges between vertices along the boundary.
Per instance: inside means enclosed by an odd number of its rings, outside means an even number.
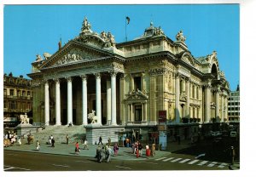
M89 144L98 144L100 136L102 136L102 143L107 144L108 138L111 143L119 141L119 132L125 131L125 126L99 126L96 124L88 124L84 126L86 129L86 139Z

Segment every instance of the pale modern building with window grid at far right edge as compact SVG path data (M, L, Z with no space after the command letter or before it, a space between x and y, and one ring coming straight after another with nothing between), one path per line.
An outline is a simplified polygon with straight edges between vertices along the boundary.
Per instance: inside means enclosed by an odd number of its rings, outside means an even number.
M228 100L229 122L240 122L240 88L237 85L236 91L230 92Z

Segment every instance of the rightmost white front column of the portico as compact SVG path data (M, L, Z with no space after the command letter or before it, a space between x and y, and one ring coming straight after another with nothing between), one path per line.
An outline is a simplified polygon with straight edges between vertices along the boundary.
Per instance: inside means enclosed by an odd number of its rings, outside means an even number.
M111 72L111 125L116 123L116 72Z

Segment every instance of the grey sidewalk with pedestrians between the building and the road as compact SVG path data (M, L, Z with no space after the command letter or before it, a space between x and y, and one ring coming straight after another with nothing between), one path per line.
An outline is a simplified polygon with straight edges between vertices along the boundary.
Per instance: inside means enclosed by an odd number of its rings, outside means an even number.
M41 143L40 151L36 150L36 141L31 145L26 144L26 140L23 140L22 145L15 143L13 146L4 147L6 151L26 151L26 152L40 152L54 155L66 155L66 156L84 156L84 157L95 157L97 145L88 145L89 150L84 150L84 145L79 144L80 153L79 155L75 154L75 144L65 144L61 142L55 142L55 147L47 145L46 143ZM111 145L113 150L113 145ZM155 156L146 156L145 149L143 149L143 156L137 158L131 152L131 147L119 147L118 156L113 156L112 160L146 160L148 158L159 158L171 154L170 151L155 151Z

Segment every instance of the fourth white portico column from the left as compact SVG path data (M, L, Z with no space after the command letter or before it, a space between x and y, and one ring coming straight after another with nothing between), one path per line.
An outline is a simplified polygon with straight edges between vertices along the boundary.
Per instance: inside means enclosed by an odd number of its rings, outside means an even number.
M87 76L82 75L82 97L83 97L83 106L82 106L82 112L83 112L83 125L87 125L87 119L88 119L88 113L87 113Z

